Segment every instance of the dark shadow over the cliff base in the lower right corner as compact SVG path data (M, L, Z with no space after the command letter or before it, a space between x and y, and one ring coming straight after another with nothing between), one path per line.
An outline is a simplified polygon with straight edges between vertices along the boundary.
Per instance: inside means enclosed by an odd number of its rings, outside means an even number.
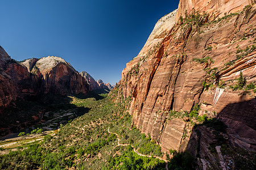
M216 118L193 127L186 151L197 158L201 169L255 169L255 117L255 98L228 104Z

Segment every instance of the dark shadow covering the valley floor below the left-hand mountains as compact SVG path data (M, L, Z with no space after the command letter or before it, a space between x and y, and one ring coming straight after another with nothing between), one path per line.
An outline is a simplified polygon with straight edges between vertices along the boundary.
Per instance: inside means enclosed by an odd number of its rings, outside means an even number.
M104 98L98 94L80 94L77 96L78 98L82 96L84 99L97 97L94 100ZM75 104L71 104L71 102L71 97L50 93L30 96L26 100L19 98L0 113L0 137L9 133L19 133L20 130L28 129L35 125L41 128L42 123L45 122L48 122L52 129L56 129L60 124L66 124L73 118L82 116L90 110L90 108L78 107Z

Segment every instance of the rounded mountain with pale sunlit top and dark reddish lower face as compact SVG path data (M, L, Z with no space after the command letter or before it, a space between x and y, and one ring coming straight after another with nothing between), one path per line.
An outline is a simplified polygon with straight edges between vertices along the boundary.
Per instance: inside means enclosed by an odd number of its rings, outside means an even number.
M52 92L53 94L79 94L89 91L89 84L82 76L63 58L43 57L40 58L32 72L39 70L43 76L44 94Z

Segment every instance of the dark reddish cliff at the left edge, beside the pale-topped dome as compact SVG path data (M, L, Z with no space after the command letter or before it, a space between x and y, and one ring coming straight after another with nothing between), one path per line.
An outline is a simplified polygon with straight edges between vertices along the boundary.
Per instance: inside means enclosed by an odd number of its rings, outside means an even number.
M11 59L2 47L0 48L0 54L0 108L7 107L17 97L40 94L40 78L30 74L25 66Z

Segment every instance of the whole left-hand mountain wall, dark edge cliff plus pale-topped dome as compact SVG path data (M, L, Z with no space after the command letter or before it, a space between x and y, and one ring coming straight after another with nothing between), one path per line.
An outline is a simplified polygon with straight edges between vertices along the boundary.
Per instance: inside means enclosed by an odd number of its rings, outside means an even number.
M79 94L89 91L89 83L60 57L31 58L22 62L11 59L0 48L0 107L5 108L17 97L39 94Z

